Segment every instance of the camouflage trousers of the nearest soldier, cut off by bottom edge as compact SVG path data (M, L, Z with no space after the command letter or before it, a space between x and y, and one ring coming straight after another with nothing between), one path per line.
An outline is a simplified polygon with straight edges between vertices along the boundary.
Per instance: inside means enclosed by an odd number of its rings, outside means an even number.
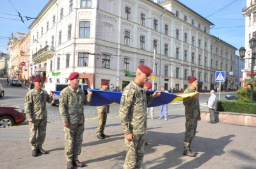
M124 169L139 169L143 163L146 134L134 136L133 142L125 138L126 157Z

